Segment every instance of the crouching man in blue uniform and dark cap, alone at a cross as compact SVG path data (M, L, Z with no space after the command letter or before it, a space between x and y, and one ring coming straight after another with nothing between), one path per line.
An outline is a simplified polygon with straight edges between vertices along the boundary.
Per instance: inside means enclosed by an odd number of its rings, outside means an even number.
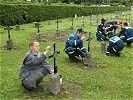
M85 40L84 31L79 28L77 32L71 34L66 41L65 53L68 54L69 58L74 60L76 56L84 58L86 56L86 48L83 47L83 40Z

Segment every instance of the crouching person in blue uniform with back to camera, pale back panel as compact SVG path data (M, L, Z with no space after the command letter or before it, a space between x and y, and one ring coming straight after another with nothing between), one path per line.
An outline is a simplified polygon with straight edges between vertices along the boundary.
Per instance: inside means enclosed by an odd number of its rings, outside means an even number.
M112 31L109 31L108 35L110 39L109 39L106 55L120 56L120 51L124 48L123 41L118 36L113 34Z

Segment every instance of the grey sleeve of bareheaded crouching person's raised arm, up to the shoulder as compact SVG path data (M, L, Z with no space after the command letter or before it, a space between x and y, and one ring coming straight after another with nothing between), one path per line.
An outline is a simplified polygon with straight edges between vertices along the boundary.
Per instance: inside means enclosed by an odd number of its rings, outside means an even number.
M44 55L44 53L39 53L39 55L28 54L25 57L23 64L26 66L37 66L42 64L42 62L44 62L45 59L46 56Z

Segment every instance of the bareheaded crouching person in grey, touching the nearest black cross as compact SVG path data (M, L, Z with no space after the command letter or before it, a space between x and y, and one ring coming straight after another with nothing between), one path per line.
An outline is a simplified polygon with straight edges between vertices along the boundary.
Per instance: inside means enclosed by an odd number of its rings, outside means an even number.
M50 46L46 47L45 52L39 52L39 42L34 41L29 44L29 48L20 68L20 79L22 86L32 91L47 74L54 73L54 70L46 60Z

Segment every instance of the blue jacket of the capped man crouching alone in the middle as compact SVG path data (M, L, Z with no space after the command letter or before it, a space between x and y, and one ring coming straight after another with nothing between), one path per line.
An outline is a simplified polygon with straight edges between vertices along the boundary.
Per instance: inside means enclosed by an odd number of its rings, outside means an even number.
M66 41L65 49L68 47L80 48L80 49L83 47L83 41L80 37L77 36L76 32L71 34L68 40Z

